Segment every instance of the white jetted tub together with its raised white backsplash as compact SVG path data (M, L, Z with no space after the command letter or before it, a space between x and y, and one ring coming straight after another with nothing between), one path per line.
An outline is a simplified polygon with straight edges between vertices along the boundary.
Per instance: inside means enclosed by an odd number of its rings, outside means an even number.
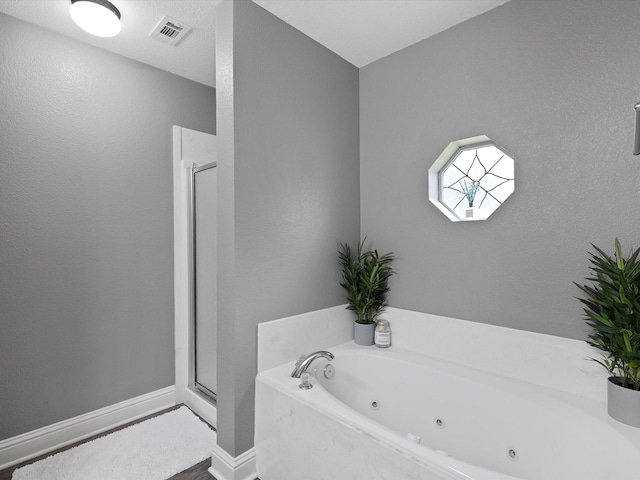
M640 429L607 415L606 372L586 360L598 352L585 342L395 308L386 314L389 349L310 341L339 325L339 313L261 324L255 450L263 480L637 480ZM290 356L276 367L263 343L275 337ZM320 373L303 391L289 374L298 353L317 349L336 355L336 374Z

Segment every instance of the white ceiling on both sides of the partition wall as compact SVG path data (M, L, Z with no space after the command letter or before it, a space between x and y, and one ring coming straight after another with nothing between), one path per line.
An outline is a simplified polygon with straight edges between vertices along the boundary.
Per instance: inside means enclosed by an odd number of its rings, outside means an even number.
M122 32L98 38L77 27L70 0L0 0L0 12L85 43L215 86L215 8L221 0L111 0ZM254 0L362 67L508 0ZM168 15L192 30L178 46L149 37Z

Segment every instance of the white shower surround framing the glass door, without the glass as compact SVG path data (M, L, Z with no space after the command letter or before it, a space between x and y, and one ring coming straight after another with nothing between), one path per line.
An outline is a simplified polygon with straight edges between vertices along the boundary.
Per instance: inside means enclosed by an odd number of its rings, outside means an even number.
M192 169L215 162L215 135L173 126L173 238L176 403L217 427L217 409L195 388L194 282L191 231Z

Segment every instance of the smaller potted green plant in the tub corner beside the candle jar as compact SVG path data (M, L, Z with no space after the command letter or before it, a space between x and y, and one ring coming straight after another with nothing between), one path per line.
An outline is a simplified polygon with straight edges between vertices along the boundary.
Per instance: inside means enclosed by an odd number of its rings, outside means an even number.
M365 250L365 240L366 237L358 244L356 255L352 255L349 245L340 244L340 286L347 292L347 310L356 314L355 342L358 345L373 345L376 317L387 306L394 255L392 252L380 255L377 250Z

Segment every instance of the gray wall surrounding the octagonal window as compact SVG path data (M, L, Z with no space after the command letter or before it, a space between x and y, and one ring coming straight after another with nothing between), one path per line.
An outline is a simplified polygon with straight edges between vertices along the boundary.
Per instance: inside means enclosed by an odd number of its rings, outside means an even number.
M360 71L361 231L397 256L391 304L584 338L590 243L640 246L640 3L513 0ZM452 223L427 170L486 134L516 191Z

